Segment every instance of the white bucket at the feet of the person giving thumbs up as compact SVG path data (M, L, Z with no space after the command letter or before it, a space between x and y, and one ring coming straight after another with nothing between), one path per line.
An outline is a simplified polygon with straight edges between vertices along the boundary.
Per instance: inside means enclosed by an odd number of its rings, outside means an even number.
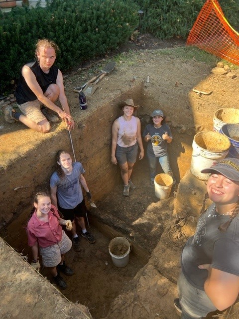
M155 196L159 199L168 198L173 184L173 177L169 174L157 174L154 178Z

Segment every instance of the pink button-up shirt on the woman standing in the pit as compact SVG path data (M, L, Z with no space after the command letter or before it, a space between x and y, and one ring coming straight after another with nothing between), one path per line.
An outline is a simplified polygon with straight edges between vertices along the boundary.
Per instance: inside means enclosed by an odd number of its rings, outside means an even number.
M54 211L54 214L53 214ZM36 210L31 216L27 224L28 245L34 246L36 241L40 247L52 246L62 239L62 227L59 224L60 218L55 206L51 205L51 210L48 213L48 222L40 220L36 216Z

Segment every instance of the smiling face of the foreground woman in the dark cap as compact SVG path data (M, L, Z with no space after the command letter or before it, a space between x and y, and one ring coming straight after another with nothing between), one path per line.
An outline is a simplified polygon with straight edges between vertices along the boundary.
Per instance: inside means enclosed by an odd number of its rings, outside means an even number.
M209 198L219 205L239 202L239 182L233 181L220 173L212 173L207 182Z

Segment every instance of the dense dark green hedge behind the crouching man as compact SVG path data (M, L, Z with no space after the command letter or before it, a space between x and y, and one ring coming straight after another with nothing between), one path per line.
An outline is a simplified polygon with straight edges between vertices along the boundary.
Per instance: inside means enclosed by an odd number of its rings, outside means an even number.
M0 15L0 92L34 59L39 38L55 41L57 66L68 70L116 49L138 23L132 0L52 0L46 8L14 8Z

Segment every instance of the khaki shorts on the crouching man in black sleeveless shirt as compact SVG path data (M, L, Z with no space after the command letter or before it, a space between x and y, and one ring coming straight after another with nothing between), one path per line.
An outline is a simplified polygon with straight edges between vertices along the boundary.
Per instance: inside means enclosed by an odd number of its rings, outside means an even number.
M17 104L21 112L30 120L38 124L39 122L45 120L45 116L41 113L41 106L43 104L38 101L29 101L23 104Z

